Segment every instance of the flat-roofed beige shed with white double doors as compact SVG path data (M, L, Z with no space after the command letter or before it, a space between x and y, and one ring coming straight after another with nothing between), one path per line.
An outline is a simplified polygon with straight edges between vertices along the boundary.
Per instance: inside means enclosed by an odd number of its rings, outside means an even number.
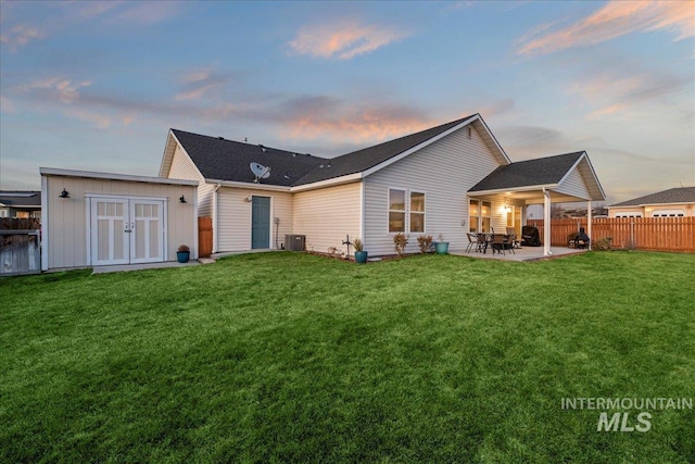
M41 269L198 259L198 183L41 167Z

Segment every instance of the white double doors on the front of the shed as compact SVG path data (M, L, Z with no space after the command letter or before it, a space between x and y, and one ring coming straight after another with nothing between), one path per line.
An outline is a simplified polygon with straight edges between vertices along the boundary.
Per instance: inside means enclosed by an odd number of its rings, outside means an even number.
M92 265L164 261L164 201L91 199Z

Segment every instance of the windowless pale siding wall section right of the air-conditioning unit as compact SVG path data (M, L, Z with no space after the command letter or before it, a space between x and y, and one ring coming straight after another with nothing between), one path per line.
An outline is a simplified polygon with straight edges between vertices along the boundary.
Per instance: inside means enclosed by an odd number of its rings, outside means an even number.
M346 251L345 236L359 236L361 190L362 184L353 183L294 193L293 234L306 236L307 250Z

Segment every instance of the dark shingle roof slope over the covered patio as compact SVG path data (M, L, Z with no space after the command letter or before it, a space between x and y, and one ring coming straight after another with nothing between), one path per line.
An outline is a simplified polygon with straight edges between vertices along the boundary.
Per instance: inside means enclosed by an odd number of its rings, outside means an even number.
M561 180L583 153L578 151L500 166L468 191L554 185Z

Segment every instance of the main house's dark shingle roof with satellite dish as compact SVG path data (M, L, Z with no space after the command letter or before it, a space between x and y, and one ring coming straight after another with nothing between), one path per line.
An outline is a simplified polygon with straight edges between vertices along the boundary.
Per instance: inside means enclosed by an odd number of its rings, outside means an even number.
M172 129L203 177L219 180L252 183L254 175L251 162L270 167L270 176L262 184L299 186L346 176L367 171L396 156L440 134L470 120L476 115L452 121L416 134L353 151L338 158L327 159L256 145L226 140Z

